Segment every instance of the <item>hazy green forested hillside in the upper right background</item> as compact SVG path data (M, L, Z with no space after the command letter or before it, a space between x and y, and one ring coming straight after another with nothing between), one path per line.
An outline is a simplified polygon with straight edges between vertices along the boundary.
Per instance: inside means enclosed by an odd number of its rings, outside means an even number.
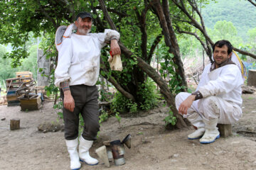
M245 0L217 0L202 6L206 27L213 29L217 21L230 21L238 35L247 39L247 31L256 27L256 8Z

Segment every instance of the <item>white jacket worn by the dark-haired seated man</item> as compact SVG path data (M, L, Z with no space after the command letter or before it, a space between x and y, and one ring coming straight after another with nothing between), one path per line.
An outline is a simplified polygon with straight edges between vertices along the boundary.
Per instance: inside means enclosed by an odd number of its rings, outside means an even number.
M196 91L200 91L203 98L208 96L219 96L225 101L235 103L242 107L243 84L240 69L235 64L227 64L210 72L211 64L203 70L202 79ZM241 109L242 111L242 109Z

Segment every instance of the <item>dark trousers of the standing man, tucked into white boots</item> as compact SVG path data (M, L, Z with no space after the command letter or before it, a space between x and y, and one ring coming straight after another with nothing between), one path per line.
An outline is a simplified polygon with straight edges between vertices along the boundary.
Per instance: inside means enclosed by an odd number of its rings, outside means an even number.
M63 107L65 140L74 140L78 137L80 113L85 123L82 137L85 140L96 140L97 132L100 130L97 86L70 86L70 91L75 101L75 109L70 112ZM62 90L60 96L64 98Z

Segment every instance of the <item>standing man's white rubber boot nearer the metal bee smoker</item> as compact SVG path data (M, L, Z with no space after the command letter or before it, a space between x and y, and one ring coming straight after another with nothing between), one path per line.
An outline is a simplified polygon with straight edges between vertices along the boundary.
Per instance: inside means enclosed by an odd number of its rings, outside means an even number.
M97 165L99 162L97 159L90 157L89 149L92 147L92 140L85 140L82 135L79 137L79 157L81 162L85 162L88 165Z

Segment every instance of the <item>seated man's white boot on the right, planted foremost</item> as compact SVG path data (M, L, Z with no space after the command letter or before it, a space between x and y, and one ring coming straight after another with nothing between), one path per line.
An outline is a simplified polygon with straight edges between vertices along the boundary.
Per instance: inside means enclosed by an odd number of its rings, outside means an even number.
M203 137L199 140L201 144L208 144L214 142L216 139L220 138L220 132L218 131L217 123L218 118L211 120L203 120L206 124L206 132Z

